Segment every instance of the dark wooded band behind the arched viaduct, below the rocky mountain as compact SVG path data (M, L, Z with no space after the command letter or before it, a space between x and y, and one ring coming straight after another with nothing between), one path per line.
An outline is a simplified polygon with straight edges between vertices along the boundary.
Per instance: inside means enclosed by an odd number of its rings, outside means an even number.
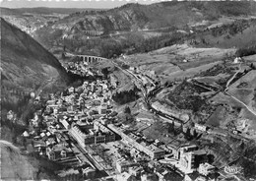
M145 38L140 34L131 33L126 34L126 38L118 40L111 37L91 39L74 37L64 39L63 46L73 52L79 51L82 53L94 49L101 57L114 58L122 53L145 53L165 46L170 46L180 41L183 37L184 34L181 32L162 33L159 36L150 38Z

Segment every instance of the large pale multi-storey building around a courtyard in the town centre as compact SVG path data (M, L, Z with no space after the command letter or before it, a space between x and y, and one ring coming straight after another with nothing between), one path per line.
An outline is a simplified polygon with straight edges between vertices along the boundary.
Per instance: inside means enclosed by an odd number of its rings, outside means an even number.
M98 122L83 126L73 125L70 134L83 147L115 141L115 134Z

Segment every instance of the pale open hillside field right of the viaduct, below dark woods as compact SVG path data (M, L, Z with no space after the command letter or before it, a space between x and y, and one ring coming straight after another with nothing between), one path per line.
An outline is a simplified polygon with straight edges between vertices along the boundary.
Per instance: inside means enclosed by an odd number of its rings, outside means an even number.
M129 55L119 61L137 67L141 72L153 70L164 83L207 71L234 52L232 48L195 48L187 44L176 44L150 53Z

